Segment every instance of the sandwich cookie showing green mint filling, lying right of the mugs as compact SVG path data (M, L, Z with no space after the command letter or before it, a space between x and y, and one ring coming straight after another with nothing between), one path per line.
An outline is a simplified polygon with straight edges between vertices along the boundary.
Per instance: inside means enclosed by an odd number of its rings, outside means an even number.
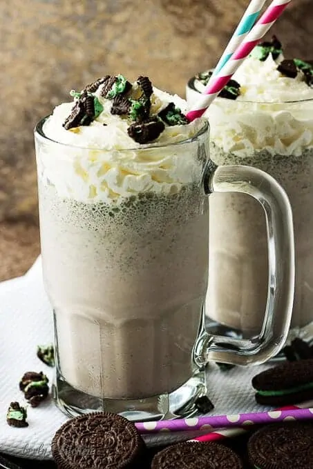
M285 362L252 379L256 402L287 406L313 397L313 359Z

